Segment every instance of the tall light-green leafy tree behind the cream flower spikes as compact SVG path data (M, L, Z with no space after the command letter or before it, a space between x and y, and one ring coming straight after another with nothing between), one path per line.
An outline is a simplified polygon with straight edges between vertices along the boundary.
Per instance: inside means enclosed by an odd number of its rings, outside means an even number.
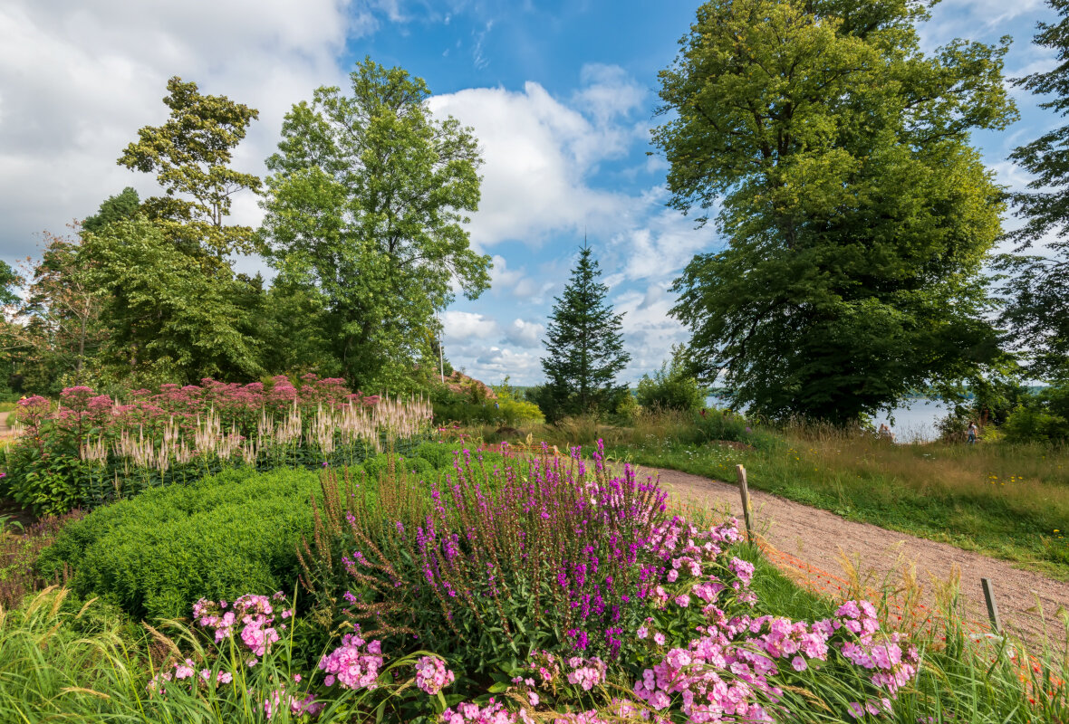
M322 330L363 388L404 388L435 313L490 285L469 247L481 163L470 129L433 117L420 78L366 59L285 116L263 232L283 284L320 298Z

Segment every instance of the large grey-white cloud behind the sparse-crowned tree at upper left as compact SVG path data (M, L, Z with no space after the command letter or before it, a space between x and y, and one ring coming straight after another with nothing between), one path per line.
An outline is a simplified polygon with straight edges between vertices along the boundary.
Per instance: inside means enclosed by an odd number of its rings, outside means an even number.
M263 173L283 113L340 79L345 40L370 30L344 0L9 0L0 6L0 255L96 210L124 186L157 192L115 164L137 129L167 116L167 79L195 80L260 109L234 166ZM210 19L206 21L205 19ZM257 223L251 199L235 219Z

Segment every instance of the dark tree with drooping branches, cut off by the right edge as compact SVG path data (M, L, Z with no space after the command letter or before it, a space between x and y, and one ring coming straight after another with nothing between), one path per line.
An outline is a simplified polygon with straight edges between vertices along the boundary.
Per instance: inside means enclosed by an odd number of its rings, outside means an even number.
M1051 70L1018 79L1033 93L1052 96L1040 108L1069 113L1069 0L1049 0L1057 22L1040 22L1035 42L1057 53ZM1032 361L1036 377L1069 380L1069 125L1063 125L1014 149L1010 159L1034 175L1028 191L1013 194L1025 224L1011 236L1021 250L1047 240L1043 253L1007 255L1013 273L1003 312L1018 343Z

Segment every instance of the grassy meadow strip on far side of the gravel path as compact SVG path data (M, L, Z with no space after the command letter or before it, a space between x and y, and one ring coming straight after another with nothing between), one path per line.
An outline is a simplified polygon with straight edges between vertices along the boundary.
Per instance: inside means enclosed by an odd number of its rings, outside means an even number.
M743 465L753 488L845 518L1019 562L1069 580L1069 453L992 443L890 445L801 436L735 450L669 439L611 456L717 479Z

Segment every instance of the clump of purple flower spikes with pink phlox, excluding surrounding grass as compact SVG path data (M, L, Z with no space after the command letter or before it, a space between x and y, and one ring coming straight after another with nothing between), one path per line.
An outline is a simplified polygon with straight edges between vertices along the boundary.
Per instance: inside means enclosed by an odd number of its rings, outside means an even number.
M593 457L462 455L429 500L406 479L373 506L342 495L344 615L384 650L418 643L455 667L475 699L443 721L775 721L800 691L843 715L892 706L918 654L869 603L811 623L755 615L735 521L670 516L655 481Z

